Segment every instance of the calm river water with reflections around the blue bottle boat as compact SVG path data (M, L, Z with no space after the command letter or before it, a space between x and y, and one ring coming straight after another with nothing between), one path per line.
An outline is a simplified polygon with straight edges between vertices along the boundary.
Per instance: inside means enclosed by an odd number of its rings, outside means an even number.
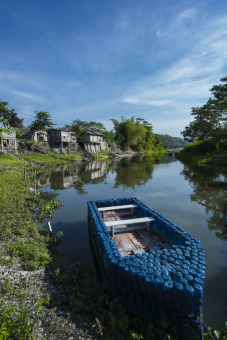
M219 327L227 320L226 173L198 169L165 157L75 163L43 173L47 195L64 200L51 220L64 233L60 251L93 267L87 225L87 201L136 196L189 231L203 243L207 270L204 320Z

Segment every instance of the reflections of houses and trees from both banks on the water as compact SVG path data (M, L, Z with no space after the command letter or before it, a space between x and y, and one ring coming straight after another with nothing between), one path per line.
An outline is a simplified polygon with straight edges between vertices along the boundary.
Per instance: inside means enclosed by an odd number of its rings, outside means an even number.
M86 195L85 185L102 183L107 180L108 173L114 173L114 188L135 190L136 186L144 186L152 179L155 164L159 162L160 159L151 156L140 156L121 161L73 163L42 173L38 186L53 190L73 187L78 195ZM164 156L162 162L168 164L175 160ZM216 237L227 240L226 173L217 168L184 165L181 175L193 189L191 201L205 207L208 228L215 231Z

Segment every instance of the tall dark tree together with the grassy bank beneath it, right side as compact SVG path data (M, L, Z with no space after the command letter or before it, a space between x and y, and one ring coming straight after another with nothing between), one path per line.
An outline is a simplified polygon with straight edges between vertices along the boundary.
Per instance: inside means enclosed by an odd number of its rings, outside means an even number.
M210 92L213 98L192 108L194 120L182 131L187 145L178 155L186 163L199 166L227 166L227 77L220 79Z

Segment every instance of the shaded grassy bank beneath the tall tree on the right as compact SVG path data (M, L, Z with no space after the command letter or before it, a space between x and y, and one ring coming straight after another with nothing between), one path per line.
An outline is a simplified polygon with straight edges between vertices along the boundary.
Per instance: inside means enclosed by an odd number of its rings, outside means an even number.
M176 157L187 164L227 167L227 146L201 141L187 145Z

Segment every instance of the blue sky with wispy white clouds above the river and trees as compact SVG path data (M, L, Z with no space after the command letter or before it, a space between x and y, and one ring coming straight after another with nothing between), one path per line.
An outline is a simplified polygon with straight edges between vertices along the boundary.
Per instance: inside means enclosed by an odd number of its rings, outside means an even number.
M1 0L0 98L25 124L132 116L181 136L227 75L226 0Z

